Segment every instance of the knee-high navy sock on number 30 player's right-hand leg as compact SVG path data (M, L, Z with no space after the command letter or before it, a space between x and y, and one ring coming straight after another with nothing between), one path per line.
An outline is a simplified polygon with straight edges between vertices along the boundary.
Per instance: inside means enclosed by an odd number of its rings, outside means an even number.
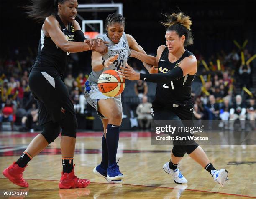
M108 124L106 141L108 147L108 166L116 164L116 152L118 148L120 126Z

